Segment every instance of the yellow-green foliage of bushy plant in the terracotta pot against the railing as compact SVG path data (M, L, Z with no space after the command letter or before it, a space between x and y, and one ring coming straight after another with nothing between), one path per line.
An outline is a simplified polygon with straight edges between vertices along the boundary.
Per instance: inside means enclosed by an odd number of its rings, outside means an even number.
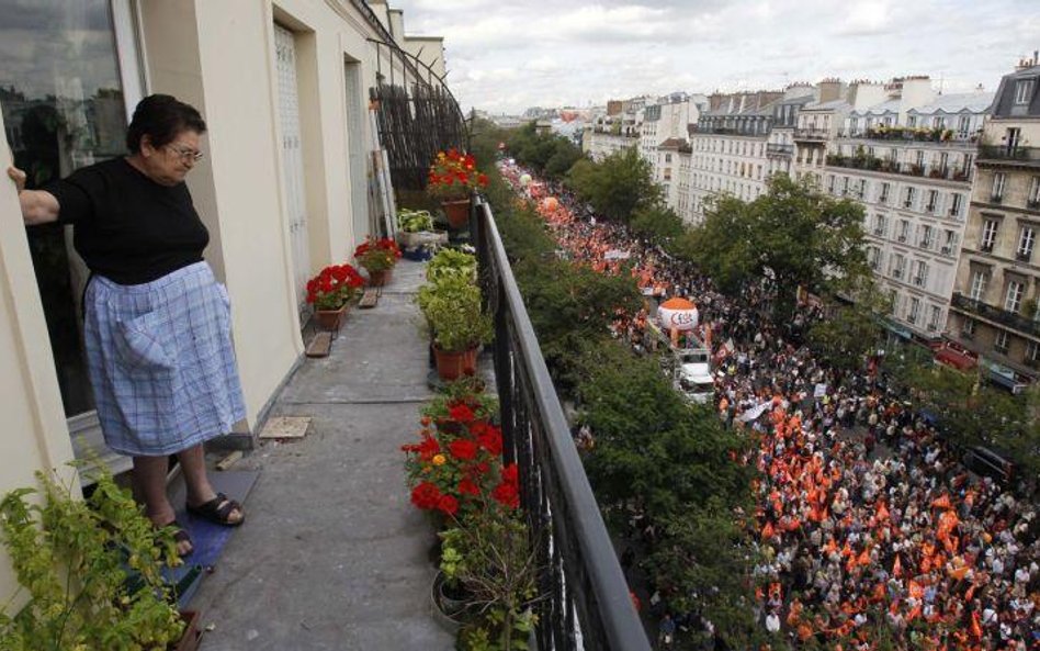
M427 283L417 301L441 350L462 352L491 340L491 317L481 305L481 288L470 278L448 276Z

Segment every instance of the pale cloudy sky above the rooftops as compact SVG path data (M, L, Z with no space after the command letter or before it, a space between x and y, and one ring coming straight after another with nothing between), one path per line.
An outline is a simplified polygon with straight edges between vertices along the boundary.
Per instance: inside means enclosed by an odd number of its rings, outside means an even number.
M1040 0L389 0L444 36L460 104L493 114L672 91L928 75L996 90L1040 49Z

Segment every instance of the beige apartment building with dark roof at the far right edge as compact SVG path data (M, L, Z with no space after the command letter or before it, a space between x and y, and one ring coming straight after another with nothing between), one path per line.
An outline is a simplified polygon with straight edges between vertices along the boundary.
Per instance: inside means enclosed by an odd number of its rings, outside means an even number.
M1040 61L996 91L977 153L947 336L990 378L1040 377Z

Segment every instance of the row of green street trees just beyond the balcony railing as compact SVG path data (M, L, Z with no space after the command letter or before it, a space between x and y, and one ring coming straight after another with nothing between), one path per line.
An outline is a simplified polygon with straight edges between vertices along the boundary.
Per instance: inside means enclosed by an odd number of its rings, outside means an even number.
M615 516L637 505L654 524L658 537L644 565L666 588L668 608L709 608L723 639L738 646L758 639L754 585L745 581L756 555L750 532L734 524L753 504L756 470L738 462L751 441L725 428L710 407L686 403L656 361L609 335L615 307L629 314L638 307L629 274L557 259L530 204L499 195L491 205L557 392L578 405L580 423L594 433L584 462L604 518L623 535L624 518ZM690 559L692 568L675 571ZM691 595L703 599L693 603Z

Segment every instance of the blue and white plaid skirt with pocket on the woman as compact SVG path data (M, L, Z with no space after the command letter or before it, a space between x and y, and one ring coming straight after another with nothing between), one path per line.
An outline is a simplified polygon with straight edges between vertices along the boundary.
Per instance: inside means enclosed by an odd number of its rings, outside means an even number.
M208 265L134 285L95 276L84 306L90 381L110 448L171 454L246 417L230 301Z

